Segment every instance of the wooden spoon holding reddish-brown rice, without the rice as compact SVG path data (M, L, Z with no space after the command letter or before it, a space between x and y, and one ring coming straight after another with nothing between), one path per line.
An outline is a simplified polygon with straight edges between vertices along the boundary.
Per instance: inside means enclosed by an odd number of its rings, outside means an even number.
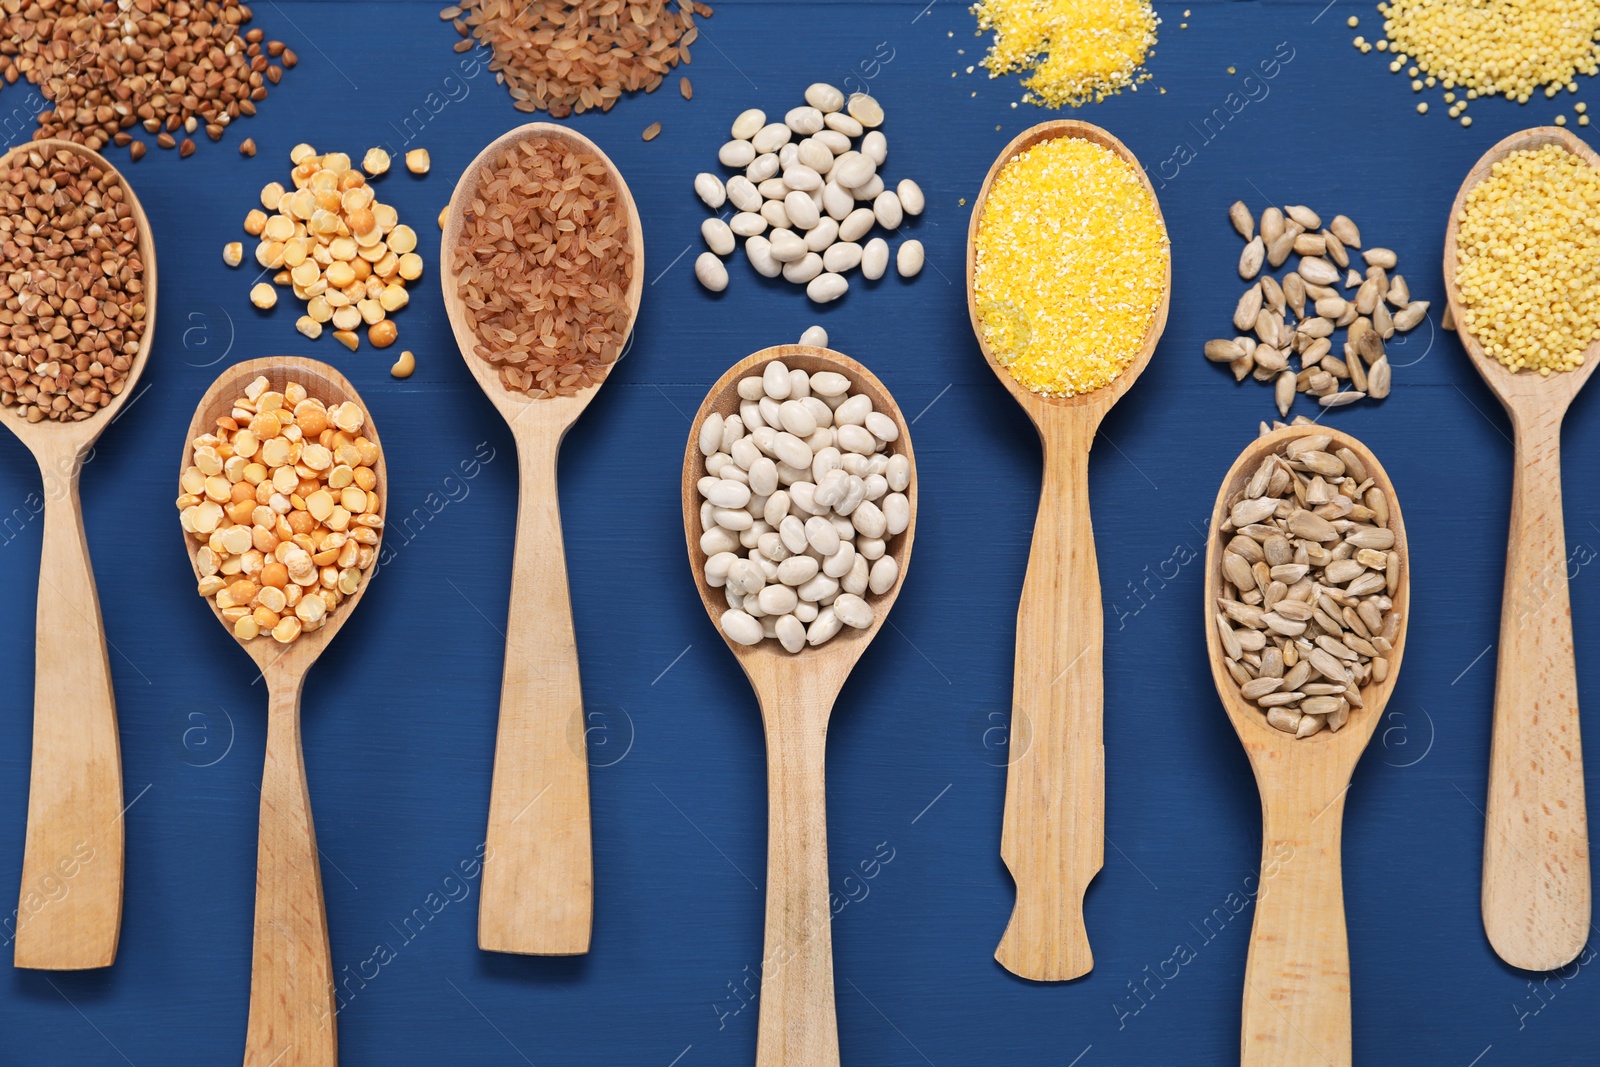
M533 400L512 392L474 349L456 290L456 243L462 205L477 190L478 170L502 149L530 138L554 139L592 152L606 165L627 208L627 240L634 250L627 291L629 330L645 288L645 238L634 197L621 171L592 141L565 126L534 122L506 133L478 152L450 198L440 243L445 310L461 358L490 402L510 426L520 456L517 547L506 619L506 673L501 678L494 781L490 787L488 851L478 901L478 947L526 955L589 952L594 925L594 856L589 843L589 760L584 737L584 694L578 680L578 641L566 592L560 498L555 464L562 438L600 390ZM603 384L603 382L602 382ZM536 811L530 811L538 803Z

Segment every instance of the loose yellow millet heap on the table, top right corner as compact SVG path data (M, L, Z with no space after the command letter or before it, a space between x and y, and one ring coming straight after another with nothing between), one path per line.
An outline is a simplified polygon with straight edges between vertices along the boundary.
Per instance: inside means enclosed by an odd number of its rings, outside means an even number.
M1389 0L1378 11L1390 48L1446 88L1526 102L1600 70L1595 0Z

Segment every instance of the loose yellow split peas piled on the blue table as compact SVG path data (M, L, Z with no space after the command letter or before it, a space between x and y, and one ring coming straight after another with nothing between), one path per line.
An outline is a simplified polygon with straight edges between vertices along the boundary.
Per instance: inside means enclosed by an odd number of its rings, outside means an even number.
M392 206L378 202L366 176L350 166L344 152L317 155L301 144L290 158L294 189L270 182L261 190L266 211L253 210L245 218L245 232L261 238L256 262L277 270L272 280L306 301L294 328L307 338L315 341L331 323L334 341L354 352L360 344L355 331L365 325L373 347L387 349L398 338L389 314L411 301L406 282L422 277L416 232L400 222ZM229 246L224 258L237 264L240 256ZM261 283L250 291L250 301L267 309L278 296Z

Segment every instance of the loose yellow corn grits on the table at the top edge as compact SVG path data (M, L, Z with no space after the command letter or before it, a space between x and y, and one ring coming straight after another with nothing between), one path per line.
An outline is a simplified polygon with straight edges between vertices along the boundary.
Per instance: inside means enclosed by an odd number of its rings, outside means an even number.
M1160 19L1149 0L979 0L978 30L994 30L989 77L1029 70L1026 102L1101 102L1149 80L1144 61Z

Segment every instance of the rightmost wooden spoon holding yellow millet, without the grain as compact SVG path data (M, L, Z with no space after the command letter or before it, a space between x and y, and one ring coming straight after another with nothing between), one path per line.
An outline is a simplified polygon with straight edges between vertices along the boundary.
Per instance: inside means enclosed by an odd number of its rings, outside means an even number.
M1547 144L1600 166L1600 155L1565 130L1514 133L1467 173L1445 229L1445 296L1461 347L1499 397L1517 438L1483 827L1483 929L1506 963L1528 971L1565 966L1589 941L1589 814L1562 525L1562 418L1600 365L1600 341L1589 346L1582 366L1549 378L1514 373L1485 354L1466 325L1456 286L1456 218L1494 163Z

